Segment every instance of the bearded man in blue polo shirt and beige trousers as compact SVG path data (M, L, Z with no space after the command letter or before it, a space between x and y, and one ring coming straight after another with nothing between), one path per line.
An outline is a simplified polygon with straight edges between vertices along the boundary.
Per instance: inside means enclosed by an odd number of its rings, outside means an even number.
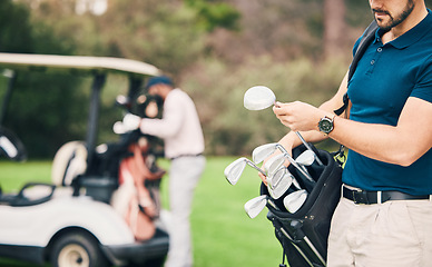
M350 148L328 267L432 266L432 12L424 0L370 6L380 29L354 76L320 108L275 105L292 130L279 142L291 150L302 131ZM346 91L348 116L337 117Z

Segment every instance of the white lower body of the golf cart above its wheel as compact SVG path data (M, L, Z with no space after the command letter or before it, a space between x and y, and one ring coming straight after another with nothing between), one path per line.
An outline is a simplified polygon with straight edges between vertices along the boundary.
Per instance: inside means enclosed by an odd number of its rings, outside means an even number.
M87 196L72 197L67 188L56 191L50 200L39 205L0 205L0 255L43 263L43 250L52 238L73 228L90 233L107 257L120 263L116 259L121 257L116 255L116 247L135 244L125 220L107 204ZM13 255L4 251L8 247Z

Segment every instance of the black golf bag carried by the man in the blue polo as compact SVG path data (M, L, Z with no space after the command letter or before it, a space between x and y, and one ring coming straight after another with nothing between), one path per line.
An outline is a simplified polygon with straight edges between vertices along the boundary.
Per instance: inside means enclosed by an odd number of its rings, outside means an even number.
M304 146L297 147L293 156L304 150ZM306 167L316 184L297 211L288 212L282 200L293 189L289 188L279 199L272 199L264 184L261 187L261 194L269 197L267 218L275 227L276 238L284 249L284 260L286 256L291 267L326 266L330 224L341 197L342 167L330 152L321 149L315 152L323 166L314 164ZM288 169L302 184L301 174L292 166ZM302 187L305 188L305 185Z

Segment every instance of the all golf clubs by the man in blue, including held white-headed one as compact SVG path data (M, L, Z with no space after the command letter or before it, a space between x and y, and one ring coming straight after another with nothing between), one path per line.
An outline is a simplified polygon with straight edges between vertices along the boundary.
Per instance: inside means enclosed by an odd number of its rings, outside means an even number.
M244 107L248 110L263 110L272 105L276 103L276 96L274 92L264 86L256 86L249 88L244 96ZM245 204L245 211L251 218L255 218L266 206L272 205L274 208L279 209L275 204L274 199L281 198L288 189L293 186L295 189L293 192L286 195L283 199L284 207L287 211L296 212L303 204L306 201L308 192L315 185L315 180L307 172L306 166L311 166L316 162L318 166L323 166L323 162L315 155L311 146L304 140L300 132L295 132L301 139L306 150L294 159L286 149L279 144L267 144L259 146L254 149L252 157L253 160L242 157L225 168L225 177L230 185L236 185L240 178L246 165L258 170L266 177L267 189L269 197L266 195L251 199ZM276 150L281 154L273 156ZM269 158L273 156L272 158ZM263 169L257 165L263 162ZM306 188L302 188L297 179L289 172L285 162L288 161L300 172L300 178L303 185L307 185Z

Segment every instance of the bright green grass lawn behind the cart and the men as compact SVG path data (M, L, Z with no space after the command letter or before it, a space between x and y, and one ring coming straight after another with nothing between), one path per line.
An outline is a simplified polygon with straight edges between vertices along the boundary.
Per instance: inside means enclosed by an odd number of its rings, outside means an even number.
M274 228L266 219L266 209L249 219L243 205L258 196L259 178L255 170L246 168L236 186L224 177L224 169L235 158L207 158L202 180L195 191L190 216L195 267L263 267L278 266L282 247L274 236ZM169 169L169 162L159 165ZM16 191L26 181L49 181L50 162L30 161L16 164L0 161L0 185L3 191ZM161 200L168 202L167 181L161 184ZM36 267L0 258L0 266Z

